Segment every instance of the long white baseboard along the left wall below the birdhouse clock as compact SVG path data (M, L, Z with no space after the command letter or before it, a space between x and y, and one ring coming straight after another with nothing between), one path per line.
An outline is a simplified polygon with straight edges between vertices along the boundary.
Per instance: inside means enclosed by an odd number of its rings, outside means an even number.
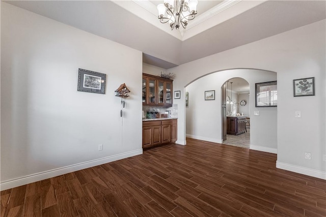
M70 166L66 166L66 167L61 167L58 169L48 170L45 172L35 173L32 175L23 176L20 178L3 181L0 183L0 190L3 191L3 190L15 188L15 187L18 187L18 186L21 186L24 184L29 184L29 183L32 183L35 181L40 181L40 180L44 180L47 178L56 177L58 175L63 175L66 173L75 172L78 170L98 166L101 164L118 161L118 160L129 158L132 156L137 156L142 153L143 153L143 149L128 151L128 152L116 154L116 155L110 156L110 157L100 158L100 159L96 159L96 160L92 160L92 161L87 161L87 162L83 162L83 163L79 163L79 164L74 164L74 165L70 165Z

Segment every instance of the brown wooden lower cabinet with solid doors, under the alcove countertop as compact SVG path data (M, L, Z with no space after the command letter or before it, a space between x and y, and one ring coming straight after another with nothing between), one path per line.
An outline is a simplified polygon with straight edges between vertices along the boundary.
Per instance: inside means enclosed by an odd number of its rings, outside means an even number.
M143 148L177 141L177 120L143 121Z

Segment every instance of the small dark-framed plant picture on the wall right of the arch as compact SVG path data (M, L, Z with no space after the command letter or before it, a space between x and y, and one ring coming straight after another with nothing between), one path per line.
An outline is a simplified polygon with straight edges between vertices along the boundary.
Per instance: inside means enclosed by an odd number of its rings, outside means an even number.
M293 80L294 97L315 96L315 77Z

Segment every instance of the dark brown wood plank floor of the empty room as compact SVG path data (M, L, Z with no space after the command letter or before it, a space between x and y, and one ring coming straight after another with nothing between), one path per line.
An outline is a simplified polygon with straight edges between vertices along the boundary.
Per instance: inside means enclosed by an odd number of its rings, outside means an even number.
M276 154L187 139L1 192L2 216L326 216L326 181Z

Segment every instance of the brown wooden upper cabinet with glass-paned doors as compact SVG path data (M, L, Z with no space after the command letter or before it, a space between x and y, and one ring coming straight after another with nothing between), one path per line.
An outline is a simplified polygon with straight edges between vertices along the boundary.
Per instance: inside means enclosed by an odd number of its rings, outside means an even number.
M172 106L173 80L143 74L143 105Z

